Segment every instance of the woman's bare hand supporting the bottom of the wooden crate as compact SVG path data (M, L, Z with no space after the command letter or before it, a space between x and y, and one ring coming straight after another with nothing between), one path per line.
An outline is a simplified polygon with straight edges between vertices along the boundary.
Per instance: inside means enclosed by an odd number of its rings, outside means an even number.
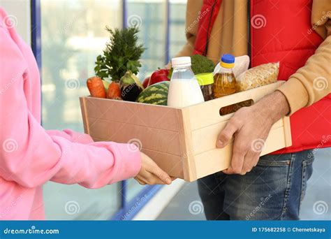
M142 166L135 180L140 184L171 184L172 180L168 173L165 173L146 154L141 153Z

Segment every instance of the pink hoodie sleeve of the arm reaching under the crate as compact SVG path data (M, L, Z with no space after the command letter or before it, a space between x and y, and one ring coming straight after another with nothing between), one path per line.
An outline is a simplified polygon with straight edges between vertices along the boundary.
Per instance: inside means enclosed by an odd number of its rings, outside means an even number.
M138 149L94 143L89 137L74 136L73 131L41 127L24 95L31 80L27 61L1 27L0 67L0 176L4 180L23 187L38 187L52 180L98 188L138 173Z

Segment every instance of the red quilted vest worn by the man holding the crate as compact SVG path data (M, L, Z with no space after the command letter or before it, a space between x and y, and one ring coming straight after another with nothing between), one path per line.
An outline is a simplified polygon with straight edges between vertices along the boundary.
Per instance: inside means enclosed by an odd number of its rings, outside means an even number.
M316 31L308 31L311 29L311 6L312 0L273 3L267 0L250 1L251 22L258 20L258 24L267 23L263 24L263 27L253 24L250 26L252 67L279 61L278 79L288 80L290 75L304 66L323 42L323 38ZM220 7L221 0L204 1L203 9L210 8L212 11L199 22L195 54L206 54L205 46ZM293 145L274 153L331 147L330 106L331 94L290 116Z

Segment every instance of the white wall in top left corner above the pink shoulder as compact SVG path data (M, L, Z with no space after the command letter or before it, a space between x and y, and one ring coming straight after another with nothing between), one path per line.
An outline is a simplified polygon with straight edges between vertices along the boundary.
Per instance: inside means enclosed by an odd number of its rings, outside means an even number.
M18 34L31 45L31 9L29 0L0 0L0 6L8 15L13 15Z

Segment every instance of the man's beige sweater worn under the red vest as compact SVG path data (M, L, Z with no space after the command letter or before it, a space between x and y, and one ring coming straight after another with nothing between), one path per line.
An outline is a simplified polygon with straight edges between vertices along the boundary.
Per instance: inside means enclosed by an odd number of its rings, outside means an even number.
M193 54L198 31L196 23L203 0L188 0L186 10L187 43L177 56ZM288 100L290 114L310 106L331 92L331 0L314 0L311 25L325 40L306 64L279 87ZM247 0L223 0L209 39L207 57L214 62L224 53L247 55ZM235 31L234 31L235 29ZM321 79L323 89L314 87ZM325 85L325 87L324 87Z

